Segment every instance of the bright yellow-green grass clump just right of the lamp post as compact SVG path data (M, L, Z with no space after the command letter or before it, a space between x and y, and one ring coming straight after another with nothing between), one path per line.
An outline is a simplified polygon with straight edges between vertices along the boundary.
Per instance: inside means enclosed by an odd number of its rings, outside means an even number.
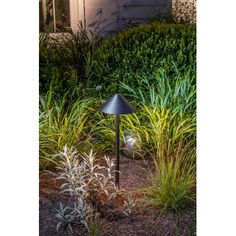
M163 145L179 142L195 146L195 116L182 116L168 109L141 105L137 115L124 117L124 131L137 138L140 156L159 156Z

